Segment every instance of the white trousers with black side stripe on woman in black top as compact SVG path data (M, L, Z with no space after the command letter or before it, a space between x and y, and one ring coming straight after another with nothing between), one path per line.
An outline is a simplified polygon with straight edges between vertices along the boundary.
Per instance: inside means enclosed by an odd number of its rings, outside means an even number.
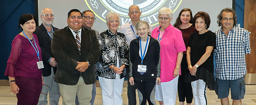
M206 88L205 82L202 79L191 82L195 105L206 105Z

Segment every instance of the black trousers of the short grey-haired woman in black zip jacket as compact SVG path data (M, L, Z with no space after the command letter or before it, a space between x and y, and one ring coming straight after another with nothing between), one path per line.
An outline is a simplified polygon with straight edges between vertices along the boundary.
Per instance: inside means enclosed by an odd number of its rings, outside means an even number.
M142 81L142 82L134 80L134 82L137 89L141 92L143 96L143 100L140 105L146 105L147 101L149 105L154 105L152 101L155 101L155 97L153 97L154 99L150 99L150 98L151 98L151 95L155 96L155 91L152 91L153 88L155 88L155 79Z

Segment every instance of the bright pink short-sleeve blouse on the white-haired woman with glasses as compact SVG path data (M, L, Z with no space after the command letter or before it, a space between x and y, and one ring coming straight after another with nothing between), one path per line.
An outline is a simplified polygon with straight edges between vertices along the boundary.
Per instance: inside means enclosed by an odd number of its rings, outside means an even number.
M158 38L160 33L159 27L152 30L152 37ZM160 39L160 38L159 38ZM165 32L160 41L160 59L161 59L161 82L169 82L173 77L173 71L176 67L178 52L186 51L182 33L179 29L171 26L171 24L165 29ZM180 70L181 74L181 70Z

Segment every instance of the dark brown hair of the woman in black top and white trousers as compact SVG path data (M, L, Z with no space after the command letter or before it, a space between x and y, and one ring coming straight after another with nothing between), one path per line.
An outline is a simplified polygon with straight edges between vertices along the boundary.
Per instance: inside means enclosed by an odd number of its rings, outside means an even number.
M210 27L210 23L211 23L209 14L204 11L197 12L197 14L195 14L195 16L193 18L193 26L195 26L195 22L198 17L201 17L202 19L204 19L204 22L206 24L206 29L208 29Z

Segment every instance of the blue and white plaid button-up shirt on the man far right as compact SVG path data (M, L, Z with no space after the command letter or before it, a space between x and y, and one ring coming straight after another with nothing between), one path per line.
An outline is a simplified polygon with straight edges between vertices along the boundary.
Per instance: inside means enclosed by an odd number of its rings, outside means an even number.
M216 77L228 80L241 78L247 72L245 54L251 53L249 32L234 26L227 38L222 28L215 34Z

